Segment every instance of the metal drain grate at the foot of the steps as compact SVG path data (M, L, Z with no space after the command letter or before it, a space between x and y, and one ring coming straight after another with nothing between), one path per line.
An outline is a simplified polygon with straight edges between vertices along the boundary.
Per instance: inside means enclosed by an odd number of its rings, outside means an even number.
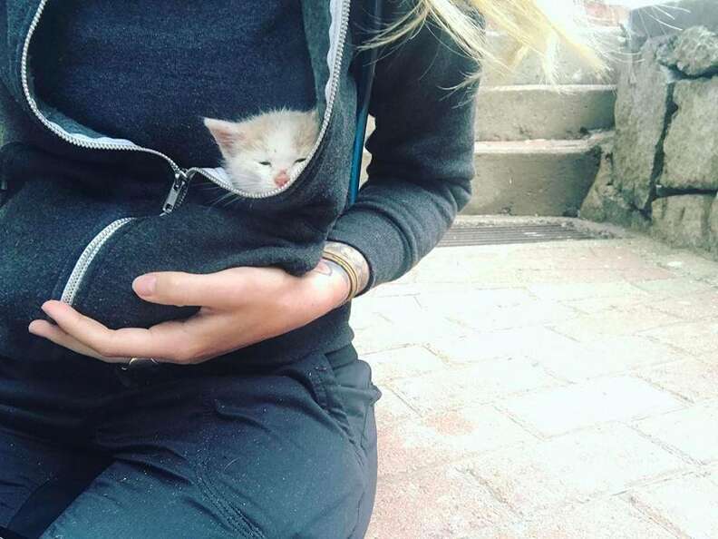
M535 223L497 225L487 223L455 223L439 242L439 247L462 245L505 245L510 243L539 243L540 241L593 240L605 238L577 230L570 223Z

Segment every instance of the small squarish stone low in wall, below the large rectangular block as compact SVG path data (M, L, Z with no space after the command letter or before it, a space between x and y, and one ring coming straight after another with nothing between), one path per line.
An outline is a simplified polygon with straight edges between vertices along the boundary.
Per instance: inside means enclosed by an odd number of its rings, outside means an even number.
M654 234L678 247L710 249L709 219L715 194L687 194L656 199Z

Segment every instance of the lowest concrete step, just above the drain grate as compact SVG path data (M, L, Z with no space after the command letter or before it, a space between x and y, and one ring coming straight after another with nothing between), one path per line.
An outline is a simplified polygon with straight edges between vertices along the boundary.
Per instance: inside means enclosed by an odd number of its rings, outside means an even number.
M476 142L473 195L462 213L576 216L605 139Z

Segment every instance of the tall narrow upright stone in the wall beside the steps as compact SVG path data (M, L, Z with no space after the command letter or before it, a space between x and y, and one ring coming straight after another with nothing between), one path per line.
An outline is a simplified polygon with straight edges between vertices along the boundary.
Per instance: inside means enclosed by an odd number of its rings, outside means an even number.
M676 81L674 73L655 60L661 44L645 43L641 54L624 65L616 91L614 186L642 211L653 196Z

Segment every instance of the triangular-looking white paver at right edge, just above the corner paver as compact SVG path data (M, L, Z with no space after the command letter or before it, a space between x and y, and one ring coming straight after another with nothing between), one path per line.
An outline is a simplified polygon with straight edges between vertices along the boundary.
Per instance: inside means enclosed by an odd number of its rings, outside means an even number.
M685 455L707 464L718 461L718 400L661 416L649 417L636 427Z

